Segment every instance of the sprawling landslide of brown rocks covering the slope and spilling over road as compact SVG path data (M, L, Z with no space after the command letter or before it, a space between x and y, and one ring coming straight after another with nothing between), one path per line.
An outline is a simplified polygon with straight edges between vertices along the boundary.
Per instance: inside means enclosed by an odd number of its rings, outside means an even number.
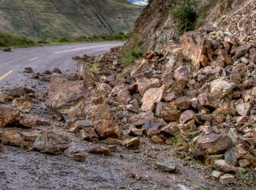
M96 58L75 56L83 64L77 74L61 75L58 69L54 73L34 74L27 69L30 77L47 84L47 93L35 96L31 88L21 88L23 91L18 93L17 89L3 91L0 100L5 105L0 109L0 126L27 127L33 133L4 128L1 140L4 145L42 153L70 150L67 137L45 132L45 122L35 115L31 117L31 104L23 104L30 97L34 104L48 107L45 115L54 115L51 122L64 126L59 131L73 134L78 141L101 143L89 148L89 153L111 155L123 148L122 151L132 153L141 151L141 157L133 157L132 161L144 161L148 147L166 147L157 149L156 154L150 153L148 157L152 159L146 162L148 170L152 169L150 178L158 176L153 168L161 171L163 177L165 172L176 173L176 179L172 178L175 185L165 186L157 180L155 184L160 189L255 189L256 2L243 1L243 6L233 8L230 1L217 3L211 11L217 12L223 5L231 9L217 18L210 11L206 24L198 30L160 42L157 35L168 34L165 28L161 30L160 18L165 23L172 21L165 19L169 18L166 1L152 3L148 9L154 12L148 25L154 29L148 30L145 15L140 18L143 23L135 28L138 34L143 34L144 45L152 50L148 49L134 66L122 65L119 48L113 48ZM8 108L8 102L16 108ZM39 132L34 132L35 129ZM200 178L188 176L187 167L193 168L193 174ZM205 183L200 181L202 178ZM211 183L212 180L215 182Z

